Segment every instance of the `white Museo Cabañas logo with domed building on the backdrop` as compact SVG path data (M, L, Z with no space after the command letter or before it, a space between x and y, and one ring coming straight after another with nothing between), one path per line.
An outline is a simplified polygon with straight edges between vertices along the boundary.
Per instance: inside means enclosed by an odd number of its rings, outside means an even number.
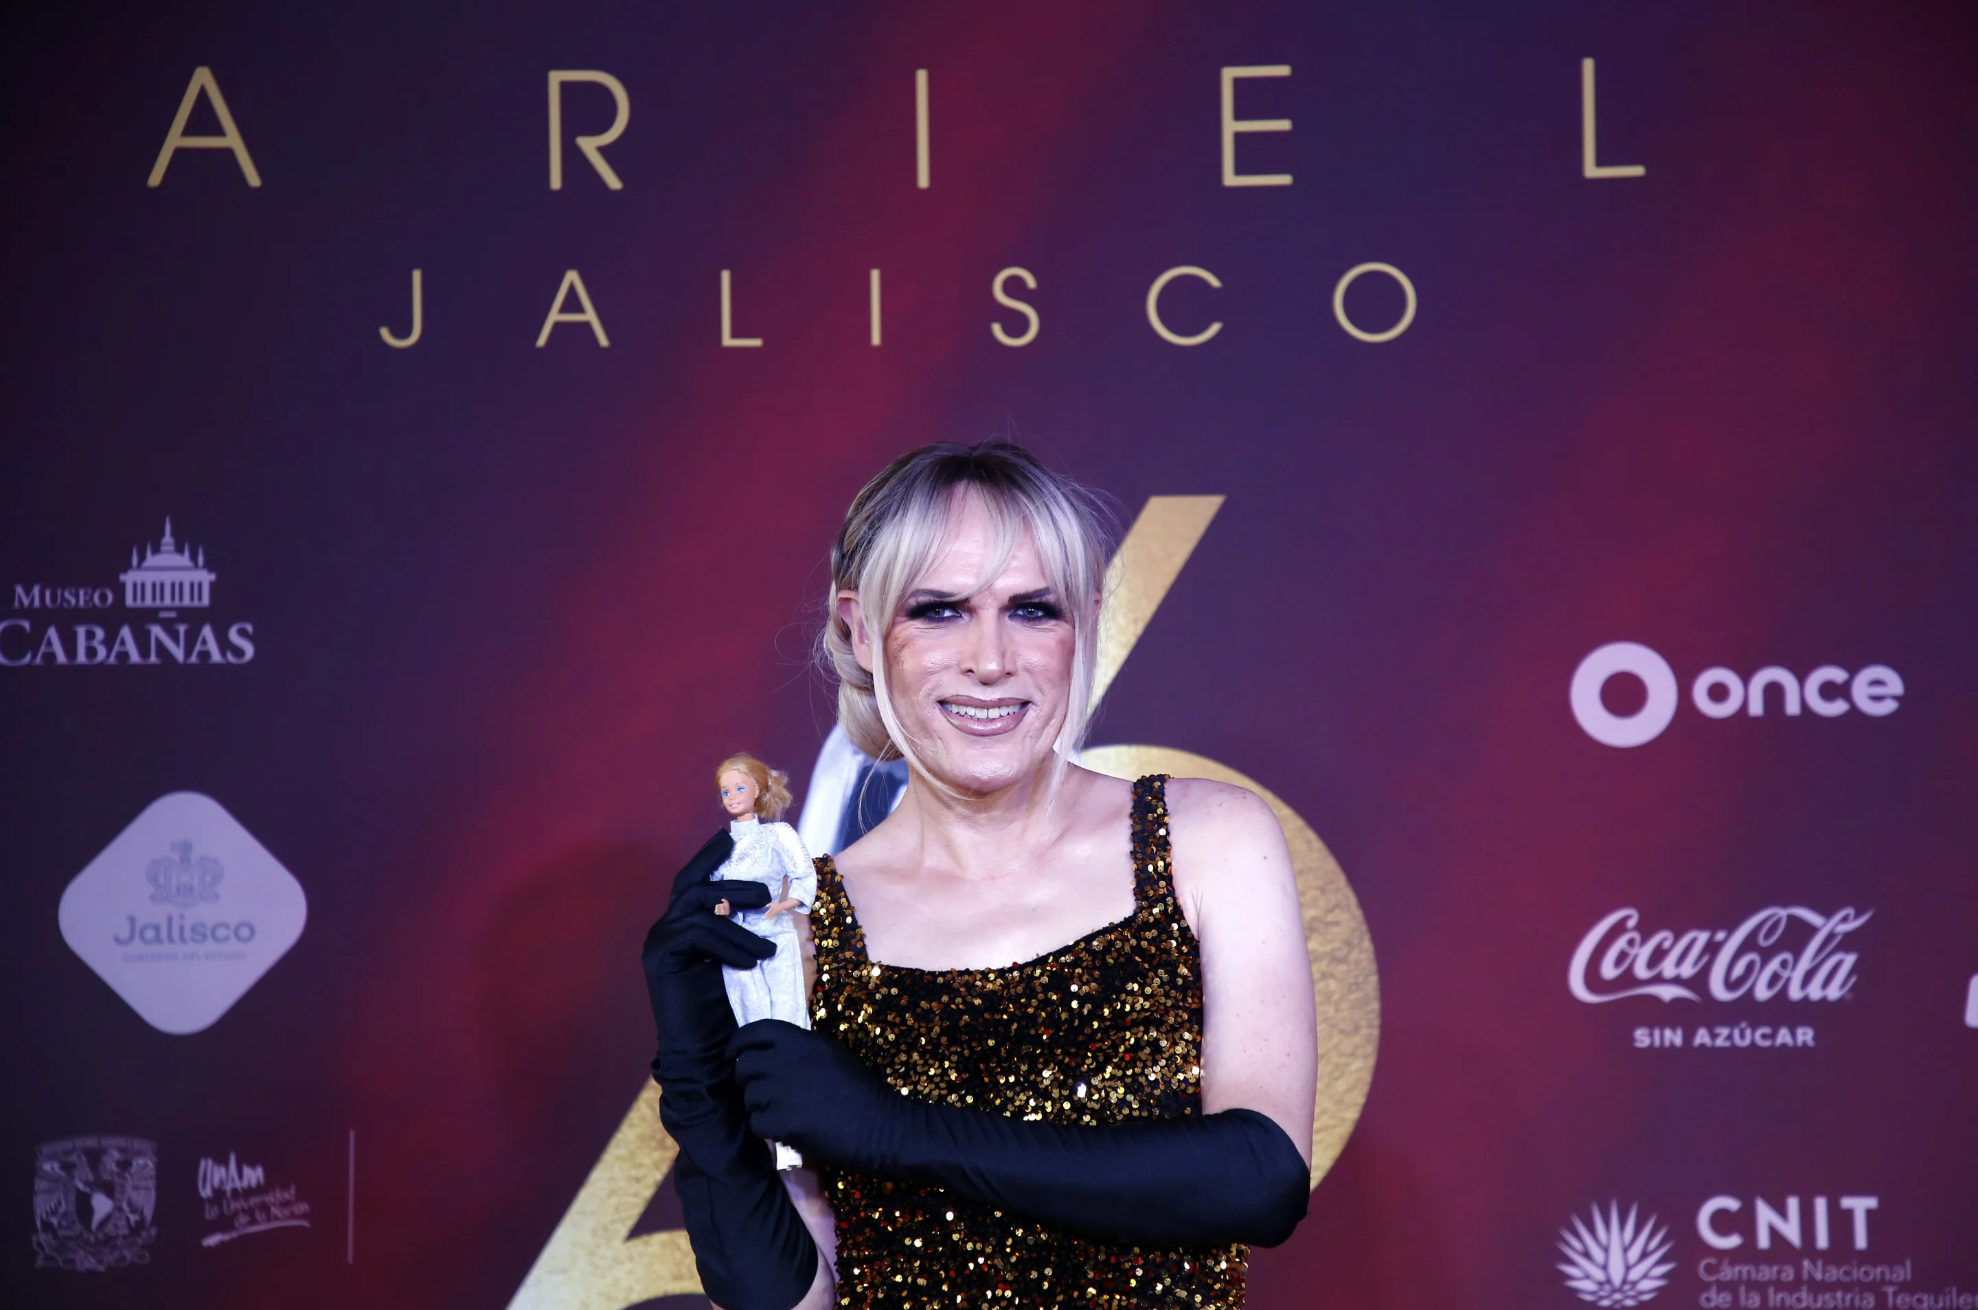
M131 548L131 568L119 574L125 609L154 609L158 621L119 623L111 633L105 623L45 623L36 617L12 615L0 619L0 665L245 665L255 655L253 623L176 621L180 609L210 609L218 574L206 568L206 548L194 548L172 536L172 520L164 520L164 538L142 558ZM14 609L93 611L111 609L117 588L14 584ZM168 621L170 619L170 621ZM224 633L224 635L222 635Z

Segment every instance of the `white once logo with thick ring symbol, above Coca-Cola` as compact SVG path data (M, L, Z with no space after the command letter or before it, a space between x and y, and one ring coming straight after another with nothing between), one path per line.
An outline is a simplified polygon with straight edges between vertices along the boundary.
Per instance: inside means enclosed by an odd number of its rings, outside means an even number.
M1608 679L1624 673L1648 689L1642 708L1632 714L1616 714L1600 699ZM1840 665L1820 665L1806 677L1780 665L1766 665L1749 679L1717 665L1699 673L1689 685L1689 702L1705 718L1731 718L1739 710L1762 718L1766 706L1778 708L1788 718L1796 718L1802 708L1822 718L1840 718L1847 710L1883 718L1897 710L1901 697L1903 677L1889 665L1863 665L1853 673ZM1573 704L1573 718L1586 736L1602 746L1642 746L1662 736L1675 718L1679 695L1675 669L1667 659L1640 641L1608 641L1573 671L1567 699Z

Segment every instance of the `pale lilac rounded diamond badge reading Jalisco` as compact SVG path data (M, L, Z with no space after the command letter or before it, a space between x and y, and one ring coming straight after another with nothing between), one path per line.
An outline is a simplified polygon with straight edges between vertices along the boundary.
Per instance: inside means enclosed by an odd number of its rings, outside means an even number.
M253 833L172 792L61 892L61 940L160 1033L198 1033L303 936L309 898Z

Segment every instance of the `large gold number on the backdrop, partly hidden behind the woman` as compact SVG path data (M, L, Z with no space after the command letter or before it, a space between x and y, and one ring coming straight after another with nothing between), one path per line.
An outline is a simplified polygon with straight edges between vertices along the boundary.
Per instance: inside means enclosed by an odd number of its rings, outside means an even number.
M1149 497L1120 542L1106 568L1094 706L1218 509L1222 497ZM1319 1114L1311 1124L1311 1185L1317 1187L1359 1122L1381 1045L1373 940L1339 861L1298 811L1226 764L1171 746L1088 746L1080 760L1116 778L1173 774L1230 782L1256 792L1278 815L1292 849L1292 869L1298 871L1319 1019ZM676 1154L673 1138L659 1126L659 1088L647 1080L508 1310L625 1310L641 1300L698 1292L700 1278L682 1229L627 1239Z

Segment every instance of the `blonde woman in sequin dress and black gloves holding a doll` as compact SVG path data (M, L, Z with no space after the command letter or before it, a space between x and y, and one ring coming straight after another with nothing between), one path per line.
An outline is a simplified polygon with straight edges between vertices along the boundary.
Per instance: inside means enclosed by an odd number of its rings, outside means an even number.
M791 1235L718 1116L674 1132L728 1310L1238 1306L1244 1243L1304 1215L1313 1009L1284 835L1240 788L1070 762L1102 576L1088 497L1013 445L924 447L853 501L825 633L839 720L910 782L817 861L815 1031L728 1043L742 1134L821 1166L835 1253ZM667 1055L669 1021L694 1029L671 1017L694 952L736 950L694 894L690 865L655 928L661 1104L678 1082L732 1118L712 1027ZM700 1193L696 1170L726 1181Z

